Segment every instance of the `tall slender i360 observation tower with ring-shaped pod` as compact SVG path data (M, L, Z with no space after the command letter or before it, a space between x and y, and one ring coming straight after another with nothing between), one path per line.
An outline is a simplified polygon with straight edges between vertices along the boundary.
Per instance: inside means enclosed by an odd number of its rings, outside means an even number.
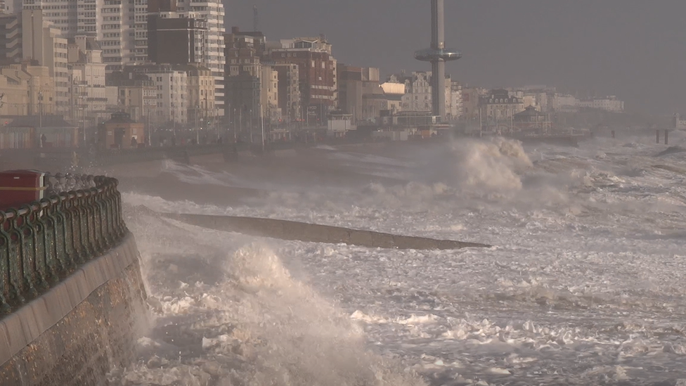
M462 58L462 53L446 49L444 0L431 0L431 48L415 52L415 59L431 62L433 114L446 119L446 62Z

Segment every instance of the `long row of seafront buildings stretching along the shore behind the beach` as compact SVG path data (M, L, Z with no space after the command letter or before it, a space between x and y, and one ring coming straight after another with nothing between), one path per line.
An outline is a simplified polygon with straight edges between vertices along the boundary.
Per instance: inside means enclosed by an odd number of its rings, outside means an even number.
M448 75L446 117L436 120L432 72L382 79L378 68L339 63L324 35L269 40L226 31L221 0L0 0L0 12L4 131L36 121L45 131L53 122L88 142L112 112L125 112L148 133L247 130L252 141L264 126L274 140L310 127L335 136L374 124L498 129L509 121L512 129L514 120L550 122L558 112L623 111L614 96L488 90Z

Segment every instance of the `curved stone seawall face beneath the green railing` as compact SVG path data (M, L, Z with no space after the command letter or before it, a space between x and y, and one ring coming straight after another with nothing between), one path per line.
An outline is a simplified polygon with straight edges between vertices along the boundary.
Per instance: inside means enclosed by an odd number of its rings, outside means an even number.
M134 236L0 319L0 385L107 385L147 327Z

